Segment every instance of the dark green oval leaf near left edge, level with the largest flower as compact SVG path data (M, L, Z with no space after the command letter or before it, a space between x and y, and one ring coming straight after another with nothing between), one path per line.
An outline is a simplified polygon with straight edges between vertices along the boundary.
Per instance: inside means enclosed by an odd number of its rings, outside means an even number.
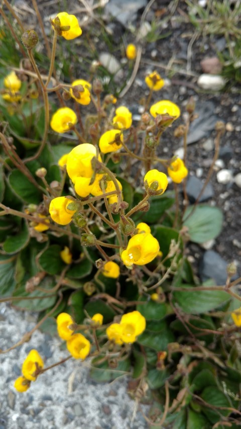
M9 182L14 192L26 203L39 204L42 193L19 170L13 170Z

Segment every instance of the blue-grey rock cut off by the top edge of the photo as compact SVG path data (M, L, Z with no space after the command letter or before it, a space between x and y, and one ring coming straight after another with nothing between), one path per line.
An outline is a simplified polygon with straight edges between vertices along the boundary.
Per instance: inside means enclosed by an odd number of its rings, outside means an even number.
M105 6L105 12L114 17L124 27L137 19L140 9L147 6L147 0L110 0Z

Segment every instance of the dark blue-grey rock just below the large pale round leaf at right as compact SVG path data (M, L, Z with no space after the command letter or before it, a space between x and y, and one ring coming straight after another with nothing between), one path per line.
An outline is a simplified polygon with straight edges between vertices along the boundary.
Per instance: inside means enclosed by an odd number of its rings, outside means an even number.
M214 250L207 250L201 259L199 265L199 275L202 282L208 279L215 280L216 285L225 285L227 280L227 262ZM235 275L232 279L237 278Z

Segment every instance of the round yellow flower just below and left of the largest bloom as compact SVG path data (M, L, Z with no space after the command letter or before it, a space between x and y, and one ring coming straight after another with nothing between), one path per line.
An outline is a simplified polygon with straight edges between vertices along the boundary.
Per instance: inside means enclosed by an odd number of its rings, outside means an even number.
M68 209L68 205L71 203L73 201L66 197L54 198L49 206L51 219L59 225L68 225L76 212L76 210Z

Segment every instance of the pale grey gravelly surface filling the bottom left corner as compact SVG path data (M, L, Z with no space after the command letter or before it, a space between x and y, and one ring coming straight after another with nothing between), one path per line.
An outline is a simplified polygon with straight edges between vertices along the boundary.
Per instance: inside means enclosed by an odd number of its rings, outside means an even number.
M34 327L34 314L1 304L1 349L16 344ZM13 384L21 375L28 352L35 348L50 366L68 356L59 338L40 331L6 355L0 355L0 429L145 429L141 412L133 422L135 401L127 393L127 377L112 383L95 383L88 376L89 362L71 359L42 374L25 393ZM147 406L143 406L147 413Z

